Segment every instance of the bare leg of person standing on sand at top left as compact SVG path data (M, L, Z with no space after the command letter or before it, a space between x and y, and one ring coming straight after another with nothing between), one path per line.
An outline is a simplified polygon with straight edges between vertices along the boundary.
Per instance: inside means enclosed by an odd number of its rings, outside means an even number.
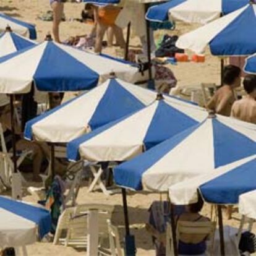
M64 11L64 4L63 2L54 1L51 4L53 8L53 36L54 40L58 43L61 43L59 39L59 24L61 23L62 14Z

